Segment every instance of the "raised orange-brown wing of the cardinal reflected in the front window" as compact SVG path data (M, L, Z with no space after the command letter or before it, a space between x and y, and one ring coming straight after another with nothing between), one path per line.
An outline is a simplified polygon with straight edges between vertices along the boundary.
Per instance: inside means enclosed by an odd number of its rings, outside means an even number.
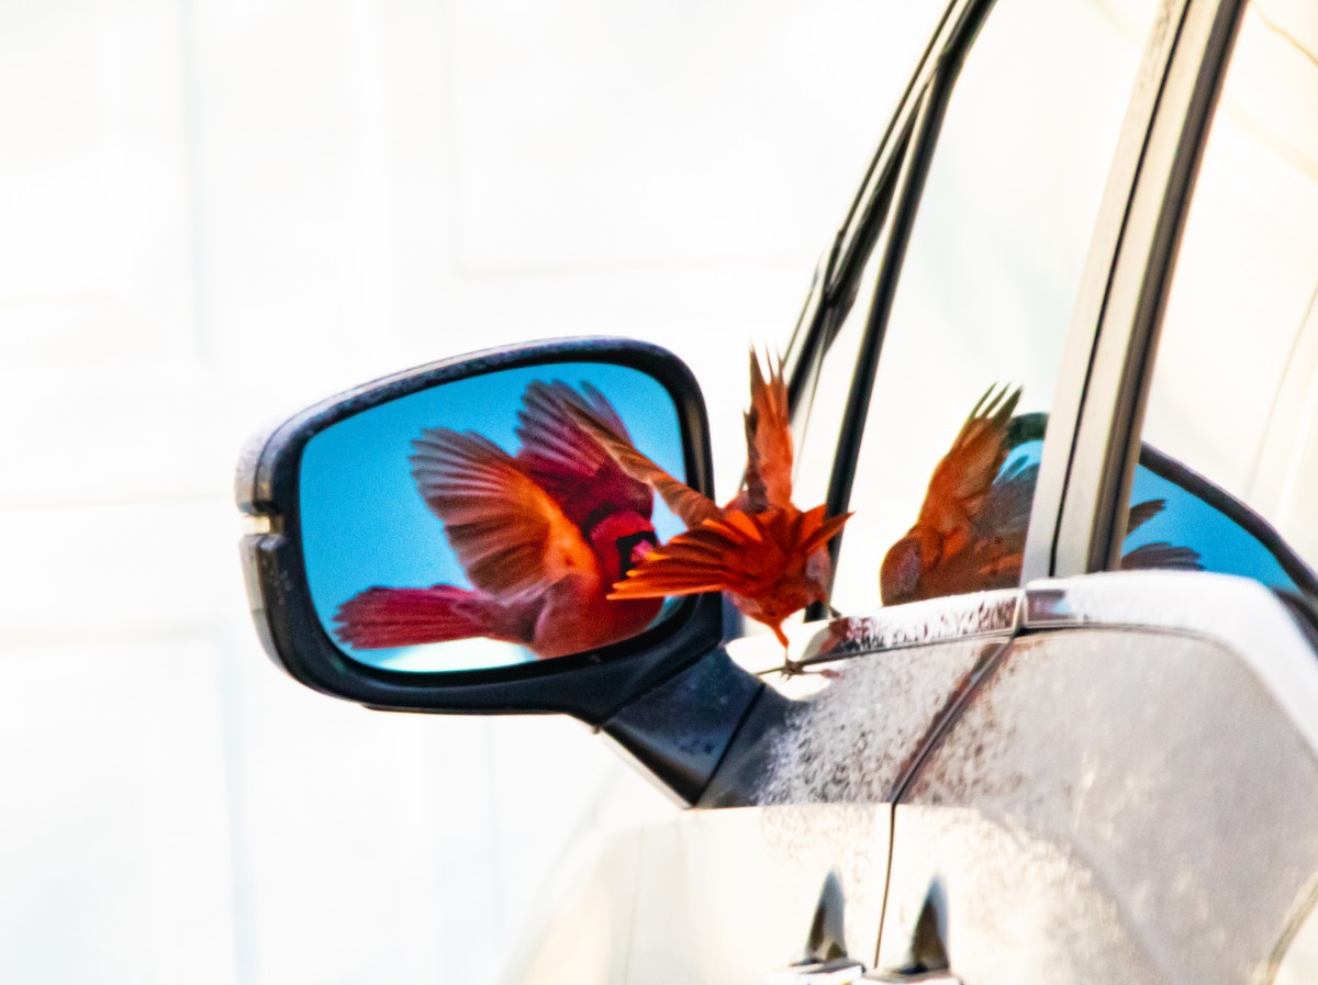
M994 387L988 387L979 398L952 449L933 470L929 491L920 507L923 521L948 533L952 527L979 512L1006 458L1007 428L1020 392L1021 388L1016 387L1008 394L1003 386L995 394Z

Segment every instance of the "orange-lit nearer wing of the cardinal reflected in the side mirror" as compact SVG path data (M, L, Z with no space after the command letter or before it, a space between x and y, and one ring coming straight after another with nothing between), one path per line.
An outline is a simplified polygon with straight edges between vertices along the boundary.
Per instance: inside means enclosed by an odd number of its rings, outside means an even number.
M413 478L472 585L493 595L594 570L581 532L494 442L448 428L413 441Z

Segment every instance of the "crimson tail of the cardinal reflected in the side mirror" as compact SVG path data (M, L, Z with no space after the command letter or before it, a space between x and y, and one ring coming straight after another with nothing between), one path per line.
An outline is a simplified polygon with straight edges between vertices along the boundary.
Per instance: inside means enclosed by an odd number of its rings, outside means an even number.
M488 595L435 585L430 589L366 589L339 607L335 636L357 649L416 647L473 636L507 639L503 607Z

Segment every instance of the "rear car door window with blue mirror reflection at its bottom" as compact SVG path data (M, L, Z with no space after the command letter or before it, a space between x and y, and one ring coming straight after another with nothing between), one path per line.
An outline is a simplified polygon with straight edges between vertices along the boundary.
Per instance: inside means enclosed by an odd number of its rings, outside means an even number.
M1131 496L1166 506L1123 545L1128 556L1173 544L1207 570L1306 594L1318 591L1315 53L1309 0L1244 9L1170 282Z

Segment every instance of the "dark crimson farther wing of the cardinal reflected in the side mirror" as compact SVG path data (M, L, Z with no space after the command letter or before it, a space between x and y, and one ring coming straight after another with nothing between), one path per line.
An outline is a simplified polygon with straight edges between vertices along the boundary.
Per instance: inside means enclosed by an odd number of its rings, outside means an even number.
M521 467L565 508L569 502L579 503L583 515L608 503L648 516L654 502L650 486L625 473L604 445L577 424L569 407L593 413L629 439L613 404L589 383L583 383L579 394L561 381L536 381L526 387L517 412ZM597 502L580 502L583 498Z

